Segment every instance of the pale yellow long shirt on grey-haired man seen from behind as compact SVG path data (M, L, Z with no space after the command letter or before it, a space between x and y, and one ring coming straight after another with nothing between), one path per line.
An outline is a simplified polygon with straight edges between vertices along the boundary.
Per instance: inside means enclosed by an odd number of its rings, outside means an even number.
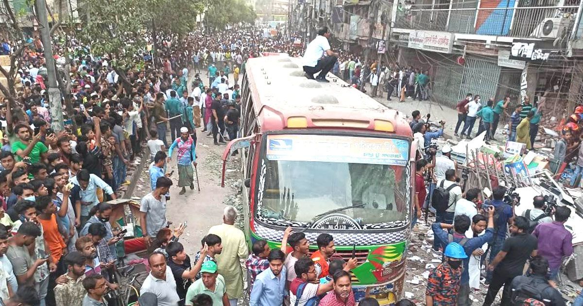
M247 259L248 249L243 231L230 224L220 224L210 228L209 234L220 237L223 251L215 255L219 274L227 284L229 298L243 297L243 270L241 259Z

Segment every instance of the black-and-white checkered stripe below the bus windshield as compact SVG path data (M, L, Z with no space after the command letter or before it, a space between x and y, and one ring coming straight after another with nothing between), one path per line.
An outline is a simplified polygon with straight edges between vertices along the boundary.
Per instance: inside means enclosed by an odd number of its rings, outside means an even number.
M254 223L255 234L264 240L282 241L283 231L275 230ZM305 237L310 243L315 243L316 238L321 233L306 232ZM375 245L375 244L389 244L405 240L409 237L409 229L401 231L392 231L386 233L329 233L334 237L335 245Z

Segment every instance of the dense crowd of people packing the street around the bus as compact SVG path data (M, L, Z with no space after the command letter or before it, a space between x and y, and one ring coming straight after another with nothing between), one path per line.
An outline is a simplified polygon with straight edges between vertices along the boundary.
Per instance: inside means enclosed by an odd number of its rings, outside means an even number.
M304 233L287 228L280 248L255 240L249 254L243 231L234 225L237 209L227 206L223 223L210 228L191 260L179 241L184 224L170 230L166 219L169 190L175 185L167 173L168 162L174 155L180 194L187 187L194 189L197 129L212 136L215 145L237 138L240 78L247 59L262 52L303 56L307 78L319 82L327 82L326 73L332 71L361 90L370 82L372 94L387 92L388 100L429 99L427 71L396 64L381 68L378 62L363 65L356 55L332 51L328 29L318 34L304 53L293 39L266 38L252 28L212 36L196 31L181 41L165 41L157 52L160 58L144 55L145 68L121 75L108 64L110 59L77 45L66 72L71 79L66 99L72 101L74 115L59 132L50 128L43 46L38 37L30 38L19 62L19 92L0 105L0 304L115 304L107 294L119 286L115 267L124 233L111 226L113 207L106 202L125 190L128 167L147 146L150 154L141 158L150 162L152 192L143 196L139 209L150 272L139 305L234 306L247 295L250 305L355 305L350 271L357 266L356 258L335 258L330 234L308 241ZM8 41L2 47L10 54ZM63 56L56 53L57 58ZM478 133L486 131L487 139L493 139L508 101L482 105L479 96L468 94L458 104L456 134L462 128L461 135L469 138L480 117ZM417 147L427 147L442 135L442 128L430 131L419 111L412 115ZM512 114L510 137L529 147L536 135L536 116L540 120L527 98ZM574 129L564 133L567 151L567 135ZM535 208L517 216L514 205L505 201L504 187L494 188L482 204L478 189L462 193L450 152L444 147L441 156L429 158L423 150L417 152L415 217L435 210L433 248L444 255L429 275L426 304L471 305L469 295L480 287L480 265L487 258L483 281L489 287L483 305L491 305L502 287L502 305L521 298L525 303L564 305L551 280L559 273L561 259L573 252L572 235L564 227L570 209L559 206L549 213L545 199L536 196ZM429 171L434 177L428 194ZM317 245L317 251L311 252L310 244ZM527 261L529 269L523 273ZM538 289L537 296L527 290L532 287ZM583 305L583 296L578 301L576 305ZM359 305L378 302L366 297ZM396 305L415 304L405 299Z

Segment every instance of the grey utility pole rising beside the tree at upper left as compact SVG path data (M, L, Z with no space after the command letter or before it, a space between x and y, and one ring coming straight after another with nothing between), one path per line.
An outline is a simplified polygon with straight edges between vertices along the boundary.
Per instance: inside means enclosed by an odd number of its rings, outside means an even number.
M51 108L51 128L55 132L61 132L65 129L63 121L63 110L61 106L61 91L57 85L57 70L55 69L55 59L52 57L52 42L50 27L47 20L47 4L45 0L34 1L34 7L37 11L38 26L40 37L43 41L43 51L45 65L47 65L48 75L48 102ZM59 16L59 18L62 16ZM54 22L54 20L53 20ZM65 73L68 73L65 71Z

